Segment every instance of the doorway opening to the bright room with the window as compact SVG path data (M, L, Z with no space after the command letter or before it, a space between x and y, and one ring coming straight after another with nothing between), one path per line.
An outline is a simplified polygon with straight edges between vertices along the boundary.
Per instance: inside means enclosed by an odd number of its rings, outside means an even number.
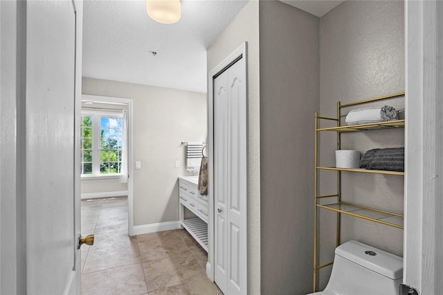
M132 100L83 95L80 122L82 235L95 234L96 242L129 238L134 227ZM87 253L83 256L82 262Z

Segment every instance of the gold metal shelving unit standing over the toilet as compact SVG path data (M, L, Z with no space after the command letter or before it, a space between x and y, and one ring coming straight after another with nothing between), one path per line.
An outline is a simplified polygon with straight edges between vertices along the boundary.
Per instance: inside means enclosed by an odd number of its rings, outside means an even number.
M326 209L329 211L334 211L337 213L336 217L336 246L340 243L340 222L341 214L350 215L353 217L361 218L363 220L368 220L370 222L377 222L379 224L385 224L386 226L392 226L397 229L403 229L403 215L399 213L384 211L378 208L370 208L368 206L362 206L360 204L351 204L341 201L341 172L360 172L360 173L374 173L381 175L399 175L404 176L404 172L397 171L385 171L385 170L365 170L365 169L347 169L347 168L335 168L335 167L323 167L318 166L318 133L319 132L336 132L337 134L337 149L341 149L341 134L345 132L365 132L370 130L379 129L392 129L392 128L402 128L404 127L404 120L391 120L386 122L378 123L368 123L359 125L343 125L341 126L342 118L342 108L351 107L354 105L362 105L368 102L375 102L377 100L384 100L388 98L399 98L404 96L404 92L394 93L388 96L379 96L377 98L369 98L365 100L359 100L356 102L350 102L341 105L341 102L337 102L337 117L325 117L318 116L315 113L315 156L314 156L314 292L317 291L318 284L318 269L332 265L333 262L325 263L324 265L318 265L318 209ZM334 127L318 127L320 120L327 120L336 123ZM318 172L320 170L335 170L337 173L337 192L332 195L318 195ZM331 199L335 198L332 204L319 204L320 199Z

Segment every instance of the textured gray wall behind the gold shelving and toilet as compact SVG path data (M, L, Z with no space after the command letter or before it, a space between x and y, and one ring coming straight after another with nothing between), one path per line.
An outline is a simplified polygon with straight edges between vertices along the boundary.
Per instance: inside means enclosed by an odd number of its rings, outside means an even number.
M345 1L320 19L320 114L336 116L336 102L351 102L404 91L403 1ZM397 109L404 101L388 102ZM376 105L379 105L377 103ZM342 149L365 152L374 147L404 146L404 130L342 136ZM322 134L321 166L334 166L335 134ZM343 199L403 211L403 177L342 173ZM334 193L335 172L320 174L320 194ZM320 216L320 262L333 258L334 214ZM403 231L352 217L343 217L341 242L359 240L399 256ZM323 276L327 279L327 275ZM323 283L325 281L323 280Z

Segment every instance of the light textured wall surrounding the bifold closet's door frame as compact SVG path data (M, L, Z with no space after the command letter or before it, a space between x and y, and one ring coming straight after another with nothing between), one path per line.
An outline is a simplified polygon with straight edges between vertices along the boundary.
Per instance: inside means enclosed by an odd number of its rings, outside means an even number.
M258 1L249 1L208 49L208 73L248 42L248 292L260 294L260 69Z

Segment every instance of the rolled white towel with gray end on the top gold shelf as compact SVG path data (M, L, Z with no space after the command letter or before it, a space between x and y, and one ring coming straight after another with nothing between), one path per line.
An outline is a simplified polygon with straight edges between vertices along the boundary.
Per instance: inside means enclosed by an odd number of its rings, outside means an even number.
M383 107L368 107L366 109L352 109L346 116L347 125L377 123L397 119L397 111L389 105Z

